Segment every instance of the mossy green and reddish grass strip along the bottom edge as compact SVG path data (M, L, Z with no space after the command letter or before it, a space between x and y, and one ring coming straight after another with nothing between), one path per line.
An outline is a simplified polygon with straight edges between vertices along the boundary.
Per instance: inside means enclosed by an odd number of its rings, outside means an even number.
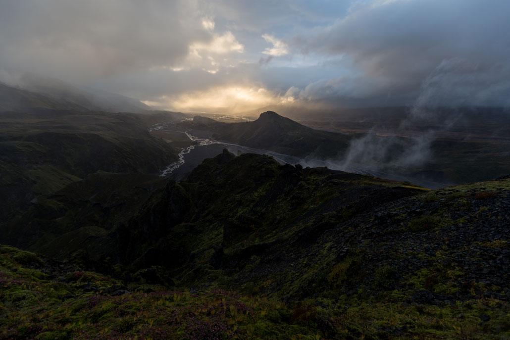
M112 296L109 289L118 285L118 281L92 272L72 271L69 267L67 273L50 279L43 269L34 265L30 268L29 263L42 259L27 253L0 247L1 338L375 340L388 336L395 339L510 336L508 303L496 299L442 306L409 304L403 301L413 291L402 290L365 297L342 296L337 301L303 300L288 306L274 299L223 290L194 294L133 290ZM25 262L27 256L32 259ZM393 273L381 267L376 276L384 281ZM96 287L96 291L84 290L90 286ZM489 321L480 321L482 314L488 315Z

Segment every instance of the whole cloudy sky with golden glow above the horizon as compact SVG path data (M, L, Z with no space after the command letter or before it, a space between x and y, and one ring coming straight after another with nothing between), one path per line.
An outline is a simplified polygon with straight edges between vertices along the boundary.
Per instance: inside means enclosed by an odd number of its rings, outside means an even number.
M508 106L509 17L508 0L0 0L0 81L183 112Z

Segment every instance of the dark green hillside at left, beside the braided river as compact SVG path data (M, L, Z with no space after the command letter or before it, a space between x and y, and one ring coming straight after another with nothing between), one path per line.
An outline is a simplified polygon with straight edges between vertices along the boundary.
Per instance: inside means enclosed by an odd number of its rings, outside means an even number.
M151 124L182 114L37 109L0 113L0 222L96 171L152 173L177 159Z

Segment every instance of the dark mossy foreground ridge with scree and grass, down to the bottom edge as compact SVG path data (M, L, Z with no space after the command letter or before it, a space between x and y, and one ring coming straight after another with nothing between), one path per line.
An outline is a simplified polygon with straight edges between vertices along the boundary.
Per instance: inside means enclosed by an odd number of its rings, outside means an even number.
M224 151L120 219L100 187L38 219L105 227L57 254L77 267L2 247L4 338L510 335L510 179L428 191Z

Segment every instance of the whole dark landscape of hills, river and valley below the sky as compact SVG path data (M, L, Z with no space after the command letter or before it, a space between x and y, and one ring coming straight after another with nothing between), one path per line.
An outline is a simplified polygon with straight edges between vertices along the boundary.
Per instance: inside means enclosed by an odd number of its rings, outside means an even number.
M483 137L490 121L431 135L410 166L395 160L427 128L338 133L272 111L0 117L0 338L510 332L507 139Z

